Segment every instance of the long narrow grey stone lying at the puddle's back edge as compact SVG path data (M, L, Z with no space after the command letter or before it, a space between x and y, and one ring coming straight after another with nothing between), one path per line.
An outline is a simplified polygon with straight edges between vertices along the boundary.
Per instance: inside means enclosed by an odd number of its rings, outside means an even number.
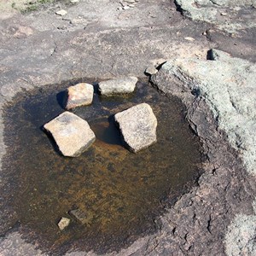
M111 79L100 82L99 91L104 96L131 93L135 89L136 83L137 78L135 77Z

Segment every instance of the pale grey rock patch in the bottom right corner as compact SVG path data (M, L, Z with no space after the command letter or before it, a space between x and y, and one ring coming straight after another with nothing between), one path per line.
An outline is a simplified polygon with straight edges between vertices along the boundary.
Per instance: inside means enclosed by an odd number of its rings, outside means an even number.
M237 215L225 236L228 256L256 255L256 216Z

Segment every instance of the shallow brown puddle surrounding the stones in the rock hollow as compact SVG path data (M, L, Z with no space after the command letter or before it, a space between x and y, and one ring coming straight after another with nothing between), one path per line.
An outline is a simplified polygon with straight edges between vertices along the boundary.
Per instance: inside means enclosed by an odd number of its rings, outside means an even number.
M0 235L19 224L22 236L49 254L118 251L155 232L154 219L166 204L195 184L201 145L183 118L182 103L139 82L130 96L95 93L92 105L72 110L89 122L96 142L78 158L65 158L40 127L64 111L71 84L75 81L20 93L5 108L1 190L4 211L12 213L3 214ZM122 146L113 115L142 102L158 119L158 142L132 154ZM86 224L68 214L77 208L86 212ZM63 231L57 226L61 217L71 219Z

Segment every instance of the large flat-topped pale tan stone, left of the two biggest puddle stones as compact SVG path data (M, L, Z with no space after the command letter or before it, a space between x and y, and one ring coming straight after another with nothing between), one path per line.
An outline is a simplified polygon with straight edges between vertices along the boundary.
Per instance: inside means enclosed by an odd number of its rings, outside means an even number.
M84 119L67 111L45 124L44 129L54 137L55 143L65 156L79 156L96 139Z

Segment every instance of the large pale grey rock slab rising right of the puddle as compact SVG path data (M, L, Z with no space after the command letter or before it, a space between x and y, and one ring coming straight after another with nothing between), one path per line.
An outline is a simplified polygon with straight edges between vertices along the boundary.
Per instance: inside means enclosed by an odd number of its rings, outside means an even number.
M211 60L167 61L157 73L203 97L247 171L256 175L256 65L213 49ZM163 88L162 90L167 90Z

